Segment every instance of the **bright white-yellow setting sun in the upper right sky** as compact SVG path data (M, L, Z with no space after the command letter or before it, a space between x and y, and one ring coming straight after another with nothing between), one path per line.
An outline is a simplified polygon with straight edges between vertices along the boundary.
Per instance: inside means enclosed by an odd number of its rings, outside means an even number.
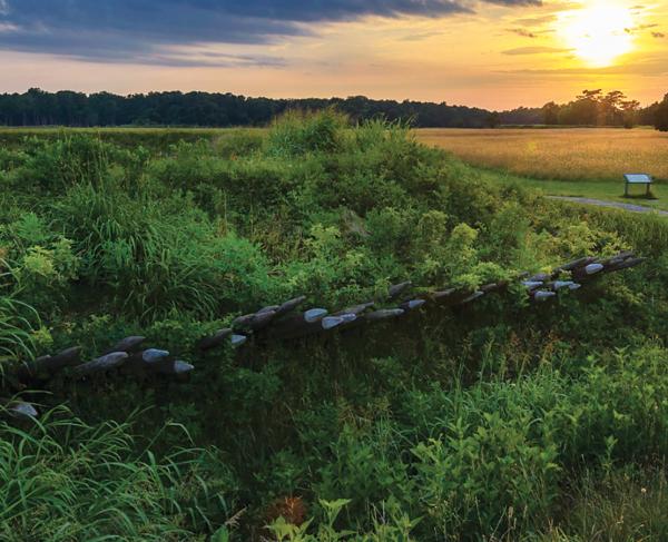
M605 68L633 50L633 14L612 2L562 13L559 32L569 48L591 67Z

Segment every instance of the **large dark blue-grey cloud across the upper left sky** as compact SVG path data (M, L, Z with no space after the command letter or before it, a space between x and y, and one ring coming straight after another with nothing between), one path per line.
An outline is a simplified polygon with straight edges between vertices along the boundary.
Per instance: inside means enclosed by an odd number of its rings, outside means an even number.
M188 57L174 48L263 46L285 37L314 36L322 22L472 13L480 2L509 8L541 4L540 0L0 0L0 28L6 29L0 32L0 49L107 62L279 65L281 59L268 57Z

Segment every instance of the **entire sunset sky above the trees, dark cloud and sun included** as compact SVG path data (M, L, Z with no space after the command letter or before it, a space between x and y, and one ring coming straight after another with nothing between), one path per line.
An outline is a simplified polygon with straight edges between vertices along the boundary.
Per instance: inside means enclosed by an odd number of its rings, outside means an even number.
M0 0L0 92L647 105L668 92L668 0Z

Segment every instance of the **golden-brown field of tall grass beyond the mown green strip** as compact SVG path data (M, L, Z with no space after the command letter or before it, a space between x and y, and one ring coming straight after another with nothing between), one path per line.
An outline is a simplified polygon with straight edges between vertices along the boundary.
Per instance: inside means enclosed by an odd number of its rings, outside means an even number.
M419 129L418 138L464 161L539 179L668 180L668 134L651 129Z

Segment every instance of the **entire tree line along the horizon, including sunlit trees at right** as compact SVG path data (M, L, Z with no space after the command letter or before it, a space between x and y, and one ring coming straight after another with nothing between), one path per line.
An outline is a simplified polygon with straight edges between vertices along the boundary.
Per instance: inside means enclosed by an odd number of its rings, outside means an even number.
M2 126L265 126L288 109L335 107L354 120L382 117L410 121L419 128L484 128L500 125L625 126L654 125L668 130L668 95L662 102L641 108L618 90L584 90L568 104L509 111L451 106L446 102L348 98L272 99L229 92L149 92L119 96L86 95L32 88L0 95Z

